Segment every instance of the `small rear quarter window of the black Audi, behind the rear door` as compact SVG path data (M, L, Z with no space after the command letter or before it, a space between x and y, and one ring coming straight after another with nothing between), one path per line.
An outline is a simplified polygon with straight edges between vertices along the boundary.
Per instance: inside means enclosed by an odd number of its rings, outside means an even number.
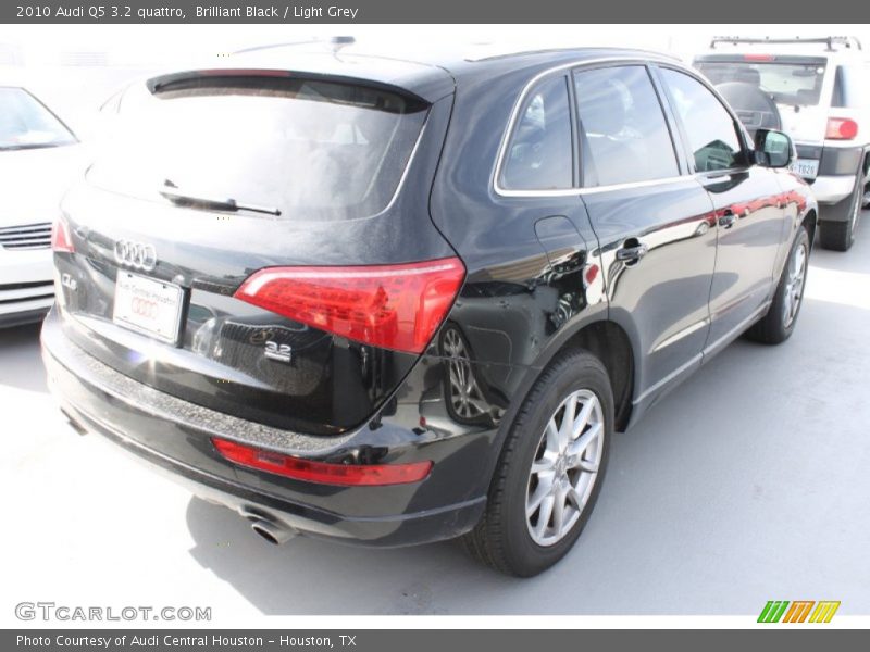
M501 172L508 190L558 190L573 185L573 148L568 80L535 87L520 109Z

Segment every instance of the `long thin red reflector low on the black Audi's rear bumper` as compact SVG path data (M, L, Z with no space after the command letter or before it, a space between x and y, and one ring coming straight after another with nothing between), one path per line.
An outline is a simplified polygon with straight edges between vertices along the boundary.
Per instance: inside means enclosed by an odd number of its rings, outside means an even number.
M419 482L432 471L432 462L412 464L328 464L254 447L212 438L217 452L240 466L274 473L297 480L320 485L378 486Z

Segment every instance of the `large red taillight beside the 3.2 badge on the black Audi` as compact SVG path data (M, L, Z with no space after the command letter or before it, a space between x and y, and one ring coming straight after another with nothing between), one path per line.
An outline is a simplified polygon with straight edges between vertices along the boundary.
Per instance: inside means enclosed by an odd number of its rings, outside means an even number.
M268 267L236 299L373 347L420 353L465 276L459 259L365 267Z

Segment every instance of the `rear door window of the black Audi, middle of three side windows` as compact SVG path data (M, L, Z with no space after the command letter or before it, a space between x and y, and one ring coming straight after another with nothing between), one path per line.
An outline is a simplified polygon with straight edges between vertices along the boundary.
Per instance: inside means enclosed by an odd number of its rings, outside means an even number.
M586 185L676 176L676 156L652 82L644 66L574 75Z

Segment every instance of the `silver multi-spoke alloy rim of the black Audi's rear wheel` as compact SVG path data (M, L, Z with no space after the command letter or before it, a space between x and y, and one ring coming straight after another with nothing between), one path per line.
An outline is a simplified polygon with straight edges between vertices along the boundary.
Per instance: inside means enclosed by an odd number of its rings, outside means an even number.
M538 546L561 541L580 519L604 454L605 418L598 397L581 389L547 422L529 473L525 523Z

